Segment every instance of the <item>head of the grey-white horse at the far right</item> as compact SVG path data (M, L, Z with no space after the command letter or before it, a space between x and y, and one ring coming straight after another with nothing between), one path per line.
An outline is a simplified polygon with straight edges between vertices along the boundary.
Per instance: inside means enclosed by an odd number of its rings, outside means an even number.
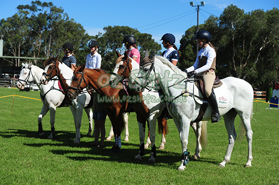
M140 88L136 89L138 92L144 91L144 88L146 88L146 86L151 83L151 78L155 75L154 56L155 51L153 51L150 55L148 55L148 52L146 51L144 59L140 62L138 79L141 79L141 82L139 83Z

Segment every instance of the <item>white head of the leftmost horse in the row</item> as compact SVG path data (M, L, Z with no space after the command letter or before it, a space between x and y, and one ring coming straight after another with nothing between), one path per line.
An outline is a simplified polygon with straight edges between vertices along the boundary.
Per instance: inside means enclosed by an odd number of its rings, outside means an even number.
M32 74L32 71L31 71L31 66L32 66L32 63L22 63L22 68L21 68L21 71L20 71L20 75L19 75L19 78L18 78L18 82L16 84L16 87L18 89L24 89L24 86L26 85L27 82L32 82L34 81L34 76Z

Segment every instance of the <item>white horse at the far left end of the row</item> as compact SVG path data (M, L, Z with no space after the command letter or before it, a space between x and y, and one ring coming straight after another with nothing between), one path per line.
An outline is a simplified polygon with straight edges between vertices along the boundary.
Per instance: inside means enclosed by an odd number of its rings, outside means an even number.
M35 83L37 83L40 89L41 100L44 103L42 107L42 111L38 117L39 135L40 137L44 136L42 119L49 111L51 133L48 136L48 139L52 139L55 135L54 123L55 123L56 108L61 106L69 106L69 105L65 103L66 102L65 95L59 89L57 80L51 81L49 84L46 85L42 85L40 83L40 78L42 77L43 72L44 69L41 69L36 65L32 65L32 63L29 64L22 63L22 69L20 71L20 76L17 82L17 88L24 89L24 86L27 84L27 82L35 81ZM93 114L90 108L85 108L84 110L89 120L89 129L86 135L91 137Z

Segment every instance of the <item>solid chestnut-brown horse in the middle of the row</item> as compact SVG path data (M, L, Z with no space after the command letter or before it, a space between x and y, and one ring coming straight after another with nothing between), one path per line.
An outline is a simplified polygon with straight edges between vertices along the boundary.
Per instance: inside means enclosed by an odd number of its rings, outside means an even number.
M88 69L83 64L74 71L71 87L68 92L70 99L76 98L87 85L90 85L98 94L100 101L104 102L108 117L111 121L115 145L112 147L114 152L121 149L121 132L124 128L122 114L125 112L128 102L127 93L122 86L112 88L110 85L110 75L101 69ZM98 99L99 101L99 99Z

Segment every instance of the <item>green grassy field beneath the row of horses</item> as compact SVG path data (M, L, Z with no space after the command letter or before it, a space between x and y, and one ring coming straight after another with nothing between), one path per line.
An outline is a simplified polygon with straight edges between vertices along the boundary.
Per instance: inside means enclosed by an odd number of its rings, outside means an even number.
M208 123L208 145L197 161L193 158L195 134L190 130L190 163L180 172L177 167L181 144L172 120L168 120L166 149L158 151L156 163L147 162L151 149L146 150L142 162L134 162L139 151L134 113L129 115L130 142L122 141L120 153L115 154L110 150L114 141L105 141L104 149L88 147L93 139L85 137L88 131L85 113L81 142L73 144L75 125L69 107L57 108L53 140L47 139L49 113L44 117L45 137L40 139L37 120L42 102L19 96L4 97L13 94L40 99L37 91L0 88L0 184L279 184L279 110L267 109L266 103L254 103L251 168L243 167L247 161L245 138L235 143L230 163L225 168L218 167L228 145L222 119L219 123ZM237 117L236 129L239 123ZM109 130L107 119L106 136ZM161 135L156 137L159 146Z

